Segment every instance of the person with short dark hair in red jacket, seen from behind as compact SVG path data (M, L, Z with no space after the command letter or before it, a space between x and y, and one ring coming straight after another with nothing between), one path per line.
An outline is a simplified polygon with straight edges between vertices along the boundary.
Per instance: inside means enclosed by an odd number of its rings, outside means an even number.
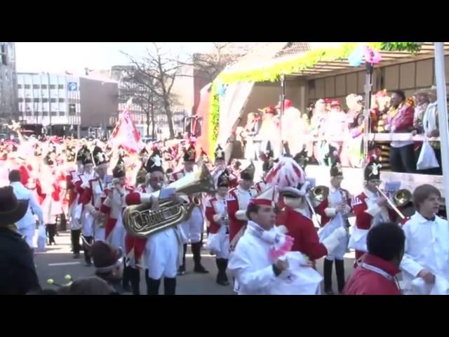
M368 232L368 253L349 277L344 295L401 295L396 275L404 255L406 236L394 223L380 223Z

